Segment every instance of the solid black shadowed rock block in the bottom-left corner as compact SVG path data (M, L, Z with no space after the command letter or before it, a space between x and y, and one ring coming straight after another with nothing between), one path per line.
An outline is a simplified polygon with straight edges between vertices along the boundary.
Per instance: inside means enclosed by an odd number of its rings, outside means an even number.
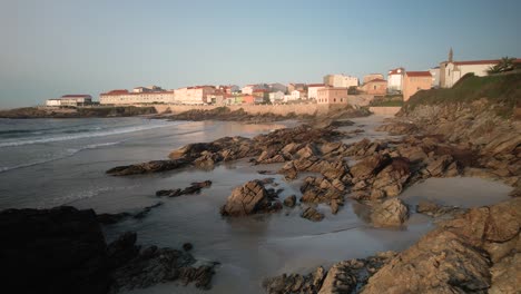
M0 213L2 288L13 293L107 293L109 263L94 210Z

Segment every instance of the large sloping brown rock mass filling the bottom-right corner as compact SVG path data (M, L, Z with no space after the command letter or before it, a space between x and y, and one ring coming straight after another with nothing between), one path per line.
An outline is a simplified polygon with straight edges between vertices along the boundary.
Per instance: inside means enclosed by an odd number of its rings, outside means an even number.
M514 293L520 212L514 198L443 223L382 267L363 293Z

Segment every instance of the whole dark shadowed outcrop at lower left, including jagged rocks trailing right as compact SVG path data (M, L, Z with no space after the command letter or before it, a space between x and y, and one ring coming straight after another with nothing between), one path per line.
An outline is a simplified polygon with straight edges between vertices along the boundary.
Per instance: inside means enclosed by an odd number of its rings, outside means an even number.
M171 248L141 249L135 233L106 244L94 210L0 212L3 288L16 293L117 293L168 281L208 288L215 264Z

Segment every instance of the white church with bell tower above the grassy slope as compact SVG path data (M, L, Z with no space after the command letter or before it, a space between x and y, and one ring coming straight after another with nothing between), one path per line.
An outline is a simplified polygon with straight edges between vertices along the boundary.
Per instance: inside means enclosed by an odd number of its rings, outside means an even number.
M488 70L500 61L499 59L454 61L451 48L449 60L440 63L440 87L451 88L466 74L484 77L489 74ZM521 63L521 59L515 59L514 62Z

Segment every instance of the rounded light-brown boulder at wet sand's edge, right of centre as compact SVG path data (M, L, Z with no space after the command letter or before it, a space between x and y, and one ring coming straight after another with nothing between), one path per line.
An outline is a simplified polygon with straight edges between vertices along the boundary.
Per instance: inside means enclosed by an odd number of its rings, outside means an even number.
M401 199L391 198L377 205L372 214L371 222L376 227L401 226L409 217L409 209Z

